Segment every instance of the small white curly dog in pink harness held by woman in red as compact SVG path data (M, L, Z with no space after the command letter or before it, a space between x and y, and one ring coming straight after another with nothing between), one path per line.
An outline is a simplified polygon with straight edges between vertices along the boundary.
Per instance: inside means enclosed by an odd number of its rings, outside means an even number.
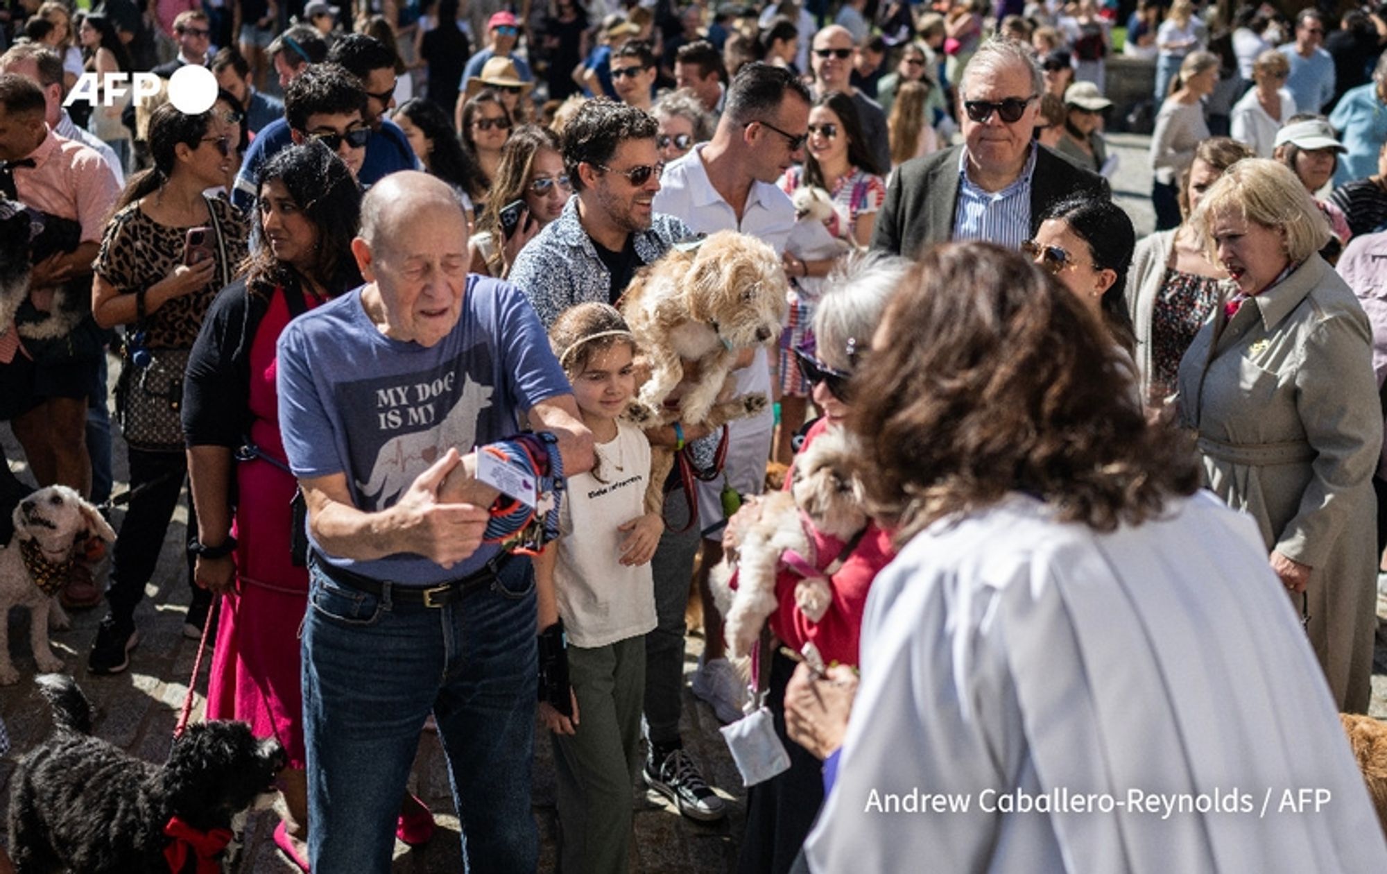
M725 616L723 637L732 658L749 655L766 619L775 612L775 574L786 565L786 551L796 569L809 570L795 585L795 603L811 622L824 617L834 592L814 555L814 540L806 526L843 542L867 527L861 481L856 466L859 451L841 427L829 427L795 458L789 491L777 491L756 502L753 522L736 548L736 591L728 587L734 565L724 559L713 569L713 595ZM834 562L836 563L836 560Z

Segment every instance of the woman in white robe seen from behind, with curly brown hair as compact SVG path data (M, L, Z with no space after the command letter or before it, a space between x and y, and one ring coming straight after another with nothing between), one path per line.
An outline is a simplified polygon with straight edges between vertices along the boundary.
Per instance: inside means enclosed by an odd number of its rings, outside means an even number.
M786 691L791 737L834 753L809 870L1387 870L1255 524L1194 492L1072 294L933 250L871 355L849 425L908 545L846 734L824 702L847 671Z

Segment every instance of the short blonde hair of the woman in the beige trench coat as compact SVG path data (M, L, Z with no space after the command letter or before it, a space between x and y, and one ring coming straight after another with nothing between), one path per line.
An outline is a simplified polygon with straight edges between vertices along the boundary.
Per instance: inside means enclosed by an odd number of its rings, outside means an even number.
M1318 252L1333 233L1329 219L1295 173L1269 158L1244 158L1227 168L1190 216L1205 257L1215 264L1214 221L1226 212L1264 228L1279 228L1286 257L1294 262Z

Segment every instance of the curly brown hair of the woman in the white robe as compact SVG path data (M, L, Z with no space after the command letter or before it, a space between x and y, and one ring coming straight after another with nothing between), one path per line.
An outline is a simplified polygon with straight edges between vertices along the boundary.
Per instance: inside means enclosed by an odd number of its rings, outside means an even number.
M1082 301L1019 252L927 250L854 376L867 499L904 544L1022 491L1100 531L1193 494L1193 447L1148 425L1130 359Z

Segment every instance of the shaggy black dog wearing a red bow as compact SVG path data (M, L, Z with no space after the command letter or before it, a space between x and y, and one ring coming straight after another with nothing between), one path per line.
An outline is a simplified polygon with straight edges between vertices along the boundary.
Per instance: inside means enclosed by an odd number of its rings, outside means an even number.
M287 763L279 741L257 739L245 723L212 721L189 726L158 767L89 737L92 708L72 677L44 674L37 685L55 730L11 784L10 853L21 874L216 870L232 819L265 805ZM218 830L227 830L221 841ZM203 842L208 834L216 852Z

